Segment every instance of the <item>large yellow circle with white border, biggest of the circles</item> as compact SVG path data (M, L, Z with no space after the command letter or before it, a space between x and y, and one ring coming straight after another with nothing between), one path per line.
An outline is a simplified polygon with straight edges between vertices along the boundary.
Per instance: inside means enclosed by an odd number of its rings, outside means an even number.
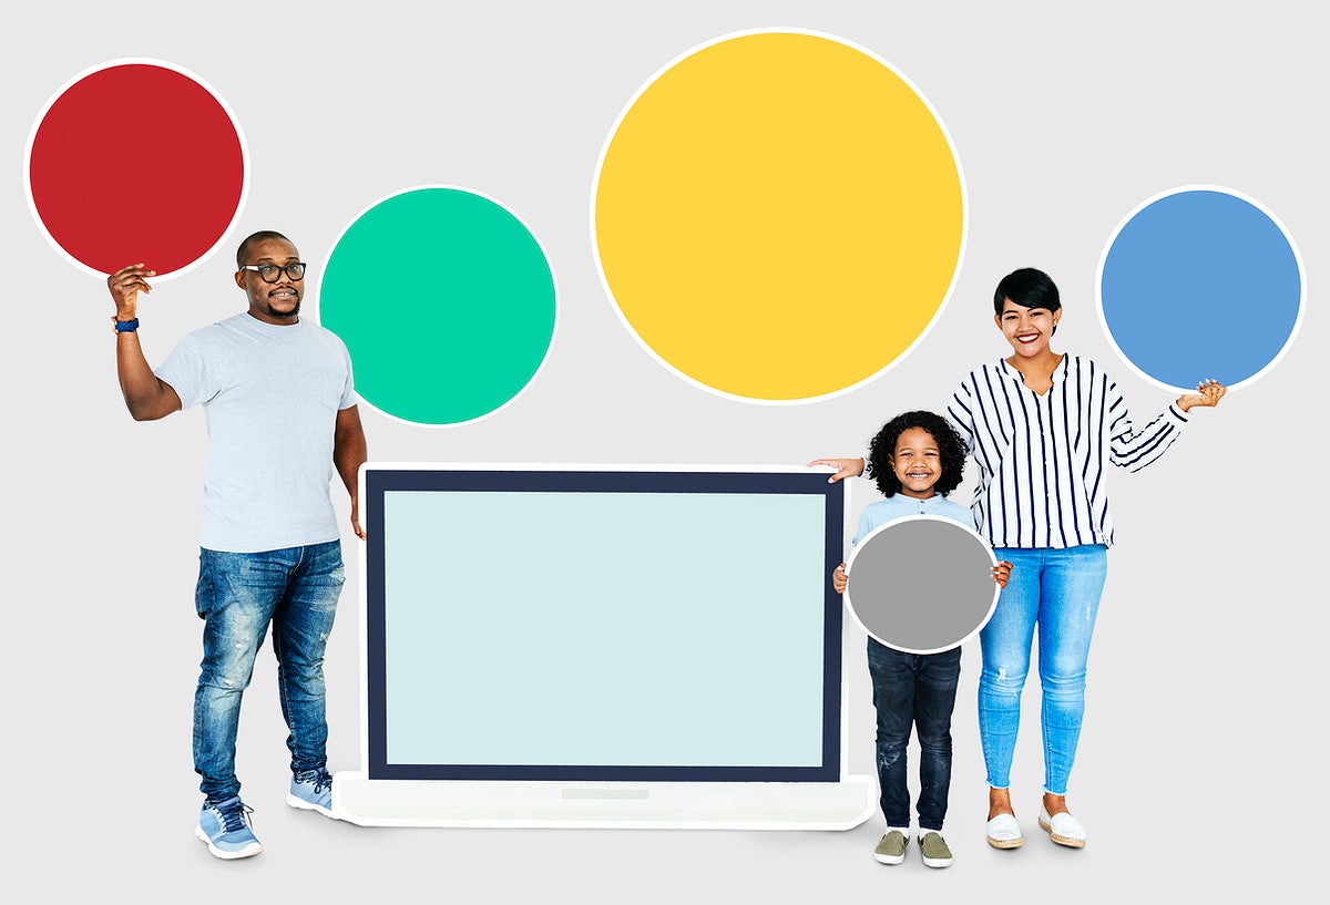
M959 159L890 64L811 32L680 57L629 102L592 205L633 335L710 391L833 396L934 323L964 249Z

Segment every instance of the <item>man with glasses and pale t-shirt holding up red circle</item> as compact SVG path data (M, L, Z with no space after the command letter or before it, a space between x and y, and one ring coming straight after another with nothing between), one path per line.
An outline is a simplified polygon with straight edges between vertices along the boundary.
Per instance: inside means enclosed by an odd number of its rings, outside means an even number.
M154 372L138 343L138 294L154 271L130 264L106 279L116 302L116 371L136 421L200 404L211 440L196 609L203 660L194 694L194 769L203 807L196 835L219 858L263 851L235 779L241 695L269 626L290 735L286 803L332 816L323 651L342 590L342 549L329 482L351 494L364 431L351 360L334 334L302 320L305 263L279 233L250 235L235 254L249 311L186 336Z

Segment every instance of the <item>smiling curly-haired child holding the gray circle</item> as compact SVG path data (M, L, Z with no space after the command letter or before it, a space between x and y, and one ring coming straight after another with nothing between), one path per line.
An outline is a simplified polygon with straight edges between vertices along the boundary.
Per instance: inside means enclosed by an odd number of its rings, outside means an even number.
M859 517L853 544L878 525L903 516L942 516L974 525L970 510L946 496L960 485L966 447L955 428L932 412L906 412L887 421L868 444L866 474L886 500L870 504ZM994 569L1005 586L1011 563ZM831 574L845 593L845 563ZM882 864L900 864L910 843L910 789L906 785L906 746L911 724L919 734L919 849L930 868L951 864L942 837L951 787L951 711L960 678L960 647L938 654L906 654L868 638L872 706L878 711L878 785L887 832L874 849Z

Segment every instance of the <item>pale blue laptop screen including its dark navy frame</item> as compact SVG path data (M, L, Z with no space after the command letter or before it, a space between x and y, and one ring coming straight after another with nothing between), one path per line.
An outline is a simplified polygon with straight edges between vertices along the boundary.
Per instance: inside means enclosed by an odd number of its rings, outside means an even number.
M367 465L368 777L835 781L843 493Z

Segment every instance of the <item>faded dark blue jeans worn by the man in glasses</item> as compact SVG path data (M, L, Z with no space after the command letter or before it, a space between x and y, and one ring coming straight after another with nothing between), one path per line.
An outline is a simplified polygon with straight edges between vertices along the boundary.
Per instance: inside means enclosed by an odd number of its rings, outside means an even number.
M346 578L340 541L263 553L203 549L198 562L203 662L194 692L194 771L202 776L206 799L223 801L241 791L235 779L241 696L269 625L291 771L327 764L323 649Z

